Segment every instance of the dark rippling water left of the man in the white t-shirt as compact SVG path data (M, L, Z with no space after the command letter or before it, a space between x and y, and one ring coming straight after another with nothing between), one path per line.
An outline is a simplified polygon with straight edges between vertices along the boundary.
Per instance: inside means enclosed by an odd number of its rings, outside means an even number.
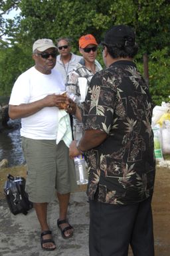
M0 130L0 161L6 158L9 167L25 164L20 128L20 120L9 120L8 128Z

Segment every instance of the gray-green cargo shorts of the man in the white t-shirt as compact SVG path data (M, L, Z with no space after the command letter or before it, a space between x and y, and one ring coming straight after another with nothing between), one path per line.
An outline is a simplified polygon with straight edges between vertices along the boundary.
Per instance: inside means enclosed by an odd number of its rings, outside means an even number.
M74 192L76 174L74 161L68 156L63 141L33 140L22 137L27 162L26 191L34 203L49 203L61 194Z

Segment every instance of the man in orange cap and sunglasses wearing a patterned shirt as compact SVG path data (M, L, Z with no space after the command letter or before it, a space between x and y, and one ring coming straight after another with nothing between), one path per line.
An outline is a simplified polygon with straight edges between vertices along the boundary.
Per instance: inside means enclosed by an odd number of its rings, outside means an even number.
M82 55L82 59L76 64L75 68L68 73L66 78L66 90L68 94L71 94L76 98L77 105L81 108L82 102L84 102L85 96L82 98L80 92L80 78L84 78L83 86L87 88L90 84L92 76L102 70L102 66L98 61L96 61L96 56L98 53L98 43L93 35L83 35L79 39L79 51ZM79 132L76 132L79 131ZM73 135L74 139L81 138L82 136L82 122L79 122L76 118L73 118Z

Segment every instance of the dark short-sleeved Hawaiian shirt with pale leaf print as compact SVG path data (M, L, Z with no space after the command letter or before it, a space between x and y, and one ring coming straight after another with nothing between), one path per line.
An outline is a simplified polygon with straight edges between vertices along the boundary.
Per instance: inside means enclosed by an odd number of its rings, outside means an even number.
M117 61L96 73L84 103L85 130L108 134L86 152L90 199L129 204L153 193L155 156L149 88L135 63Z

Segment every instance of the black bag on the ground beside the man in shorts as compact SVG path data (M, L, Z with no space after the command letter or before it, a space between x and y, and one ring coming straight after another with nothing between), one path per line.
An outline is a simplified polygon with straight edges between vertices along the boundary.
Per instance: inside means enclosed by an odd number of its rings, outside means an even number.
M25 178L8 174L4 192L9 209L14 215L17 213L27 215L29 209L33 208L33 203L29 201L28 194L25 192Z

